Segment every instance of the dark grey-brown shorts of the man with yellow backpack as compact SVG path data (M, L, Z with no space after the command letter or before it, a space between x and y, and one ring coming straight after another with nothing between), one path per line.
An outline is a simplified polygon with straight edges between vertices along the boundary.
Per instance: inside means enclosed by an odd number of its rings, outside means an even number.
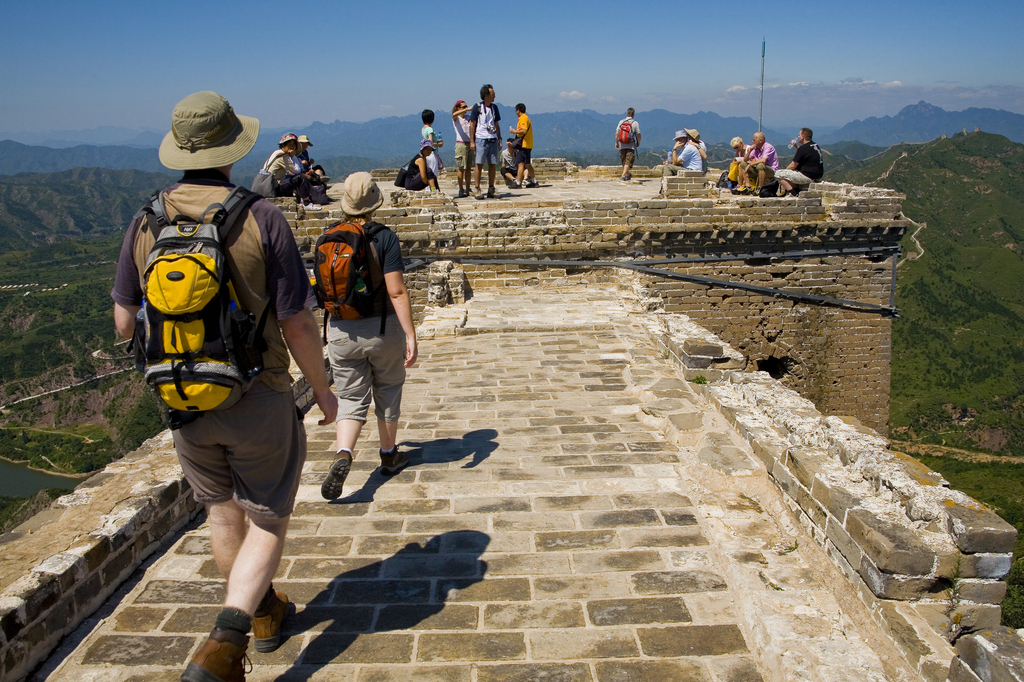
M228 410L208 412L172 434L197 502L234 498L251 517L267 520L292 513L306 461L306 430L291 391L257 381Z

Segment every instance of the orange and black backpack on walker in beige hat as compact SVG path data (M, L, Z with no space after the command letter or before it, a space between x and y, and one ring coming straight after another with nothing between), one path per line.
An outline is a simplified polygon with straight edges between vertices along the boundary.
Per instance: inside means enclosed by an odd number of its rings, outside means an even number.
M342 319L373 317L380 294L386 291L383 267L377 260L372 241L386 227L369 222L366 227L351 222L336 222L316 240L313 265L316 301L324 308L324 333L329 315ZM376 272L372 272L376 266ZM376 285L375 285L376 282ZM381 315L381 334L387 308Z

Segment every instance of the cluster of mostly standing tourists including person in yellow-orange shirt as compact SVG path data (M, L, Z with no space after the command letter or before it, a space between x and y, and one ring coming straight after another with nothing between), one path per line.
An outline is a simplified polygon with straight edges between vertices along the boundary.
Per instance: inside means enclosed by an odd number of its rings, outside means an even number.
M468 105L464 99L452 108L452 125L455 128L455 161L459 194L457 199L470 196L470 172L475 166L473 184L478 199L495 197L495 175L499 165L502 177L509 188L538 186L534 173L534 125L526 116L526 105L515 105L516 126L509 127L506 148L499 154L502 142L501 113L495 103L495 89L489 84L480 88L480 101ZM444 146L441 134L434 130L434 113L429 109L421 115L420 153L409 163L401 186L413 191L437 190L437 179L444 165L437 150ZM474 163L475 162L475 163ZM480 172L487 166L487 193L480 191Z

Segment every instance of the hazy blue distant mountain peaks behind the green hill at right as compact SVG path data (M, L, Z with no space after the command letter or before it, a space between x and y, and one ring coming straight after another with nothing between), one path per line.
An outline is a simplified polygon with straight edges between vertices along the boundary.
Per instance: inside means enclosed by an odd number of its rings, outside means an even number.
M900 110L896 116L871 117L853 121L836 132L818 135L819 142L858 140L865 144L889 146L900 142L927 142L940 135L952 135L963 130L1004 135L1015 142L1024 142L1024 116L996 109L966 109L946 112L927 101L919 101Z

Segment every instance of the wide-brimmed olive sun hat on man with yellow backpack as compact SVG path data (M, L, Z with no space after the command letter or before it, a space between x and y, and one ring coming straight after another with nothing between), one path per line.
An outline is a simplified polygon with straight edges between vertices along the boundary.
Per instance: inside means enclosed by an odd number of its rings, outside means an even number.
M238 116L216 92L196 92L174 106L160 163L171 170L220 168L249 154L257 137L259 121Z

